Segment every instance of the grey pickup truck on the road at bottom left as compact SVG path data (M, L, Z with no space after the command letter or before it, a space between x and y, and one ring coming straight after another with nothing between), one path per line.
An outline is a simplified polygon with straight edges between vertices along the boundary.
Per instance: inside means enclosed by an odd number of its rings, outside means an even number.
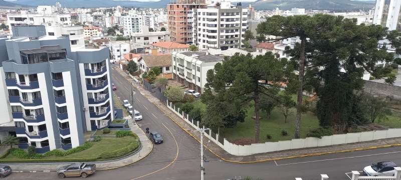
M89 174L94 173L96 170L95 164L86 164L86 163L73 163L70 165L66 165L57 169L57 174L60 178L68 177L68 176L81 176L88 177Z

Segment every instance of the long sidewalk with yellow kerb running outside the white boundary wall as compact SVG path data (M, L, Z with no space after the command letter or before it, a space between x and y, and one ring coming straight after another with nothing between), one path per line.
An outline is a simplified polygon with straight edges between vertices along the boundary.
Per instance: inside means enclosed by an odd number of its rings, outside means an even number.
M127 77L128 75L125 72L123 72L120 68L115 68L115 70L117 70L121 75L125 76L128 80L132 79L130 77ZM189 135L191 135L193 138L199 141L200 133L197 130L195 130L191 125L186 123L181 117L179 117L170 109L168 109L166 105L164 105L157 97L153 96L152 93L141 87L140 84L135 83L135 87L142 95L144 95L157 108L159 108L167 116L169 116L171 120L173 120L177 125L179 125L184 131L186 131ZM204 136L204 139L205 138L207 137ZM322 155L327 153L374 149L379 147L388 147L395 145L398 146L401 145L401 137L324 146L324 147L291 149L291 150L267 152L267 153L260 153L246 156L232 155L215 143L209 143L207 148L222 160L237 162L237 163L251 163L251 162L278 160L278 159L293 158L293 157Z

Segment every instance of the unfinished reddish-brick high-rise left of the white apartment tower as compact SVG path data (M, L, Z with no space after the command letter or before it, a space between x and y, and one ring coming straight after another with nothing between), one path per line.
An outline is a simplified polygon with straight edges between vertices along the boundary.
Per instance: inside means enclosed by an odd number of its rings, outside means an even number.
M170 40L192 43L192 9L206 8L206 0L176 0L167 4L167 24Z

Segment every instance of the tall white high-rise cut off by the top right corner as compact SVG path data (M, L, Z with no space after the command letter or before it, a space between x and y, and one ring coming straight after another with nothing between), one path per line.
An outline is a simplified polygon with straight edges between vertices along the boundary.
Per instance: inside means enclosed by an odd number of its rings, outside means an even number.
M401 31L401 0L376 0L373 23Z

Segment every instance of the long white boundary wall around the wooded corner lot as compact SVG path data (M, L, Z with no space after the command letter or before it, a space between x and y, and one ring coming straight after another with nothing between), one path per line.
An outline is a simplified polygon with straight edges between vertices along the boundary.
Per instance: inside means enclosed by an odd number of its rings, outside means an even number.
M196 129L199 129L199 122L191 123L188 120L188 115L184 117L183 112L179 113L174 110L171 102L167 100L167 107L175 112L178 116L185 120L188 124ZM195 125L196 124L196 125ZM327 145L345 144L353 142L363 142L376 139L401 137L401 128L389 128L386 130L374 130L356 133L346 133L346 134L334 134L330 136L322 136L322 138L317 137L306 137L300 139L283 140L278 142L265 142L265 143L254 143L250 145L237 145L231 143L226 138L224 138L224 144L219 142L219 134L216 134L216 138L211 137L210 132L205 136L211 139L211 141L217 143L220 147L226 150L228 153L233 155L251 155L263 152L273 152L279 150L306 148L306 147L320 147Z

